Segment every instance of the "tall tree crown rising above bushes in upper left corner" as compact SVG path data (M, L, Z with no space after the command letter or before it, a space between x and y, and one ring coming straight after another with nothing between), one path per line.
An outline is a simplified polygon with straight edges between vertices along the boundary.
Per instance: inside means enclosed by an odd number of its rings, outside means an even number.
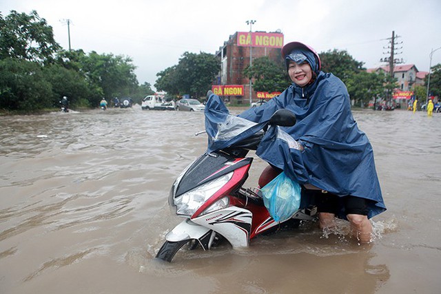
M61 47L55 41L52 27L35 10L30 14L11 10L0 14L0 57L50 63Z

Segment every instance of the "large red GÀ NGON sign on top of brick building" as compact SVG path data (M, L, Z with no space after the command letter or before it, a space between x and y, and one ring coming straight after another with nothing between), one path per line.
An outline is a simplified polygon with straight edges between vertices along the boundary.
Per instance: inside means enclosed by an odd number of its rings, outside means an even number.
M267 32L238 32L238 46L282 48L283 34Z

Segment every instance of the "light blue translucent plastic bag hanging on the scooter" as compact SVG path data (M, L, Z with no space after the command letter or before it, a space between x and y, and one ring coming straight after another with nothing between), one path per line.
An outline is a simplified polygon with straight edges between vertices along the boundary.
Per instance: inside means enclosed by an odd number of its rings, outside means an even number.
M260 189L263 193L263 203L269 215L276 222L284 222L298 211L300 207L300 185L280 173L267 185Z

